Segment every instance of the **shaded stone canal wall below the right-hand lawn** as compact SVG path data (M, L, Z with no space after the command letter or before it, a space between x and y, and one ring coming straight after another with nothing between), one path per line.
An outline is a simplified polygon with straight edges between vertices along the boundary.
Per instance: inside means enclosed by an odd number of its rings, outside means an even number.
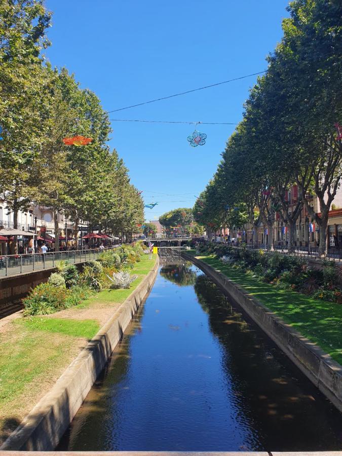
M335 407L342 411L342 366L340 364L210 265L185 253L183 257L195 263L242 307Z

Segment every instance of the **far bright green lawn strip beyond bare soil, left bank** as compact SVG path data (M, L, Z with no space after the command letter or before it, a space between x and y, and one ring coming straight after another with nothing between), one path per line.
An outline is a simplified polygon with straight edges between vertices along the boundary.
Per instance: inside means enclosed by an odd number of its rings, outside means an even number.
M141 261L134 264L134 268L130 270L130 274L137 274L138 278L131 283L130 288L118 289L118 290L109 290L105 289L100 293L96 293L89 299L81 302L77 307L78 309L85 309L96 304L111 304L119 303L125 301L128 296L136 289L136 287L142 282L143 278L153 269L156 262L157 255L153 255L152 259L148 259L148 255L141 256Z

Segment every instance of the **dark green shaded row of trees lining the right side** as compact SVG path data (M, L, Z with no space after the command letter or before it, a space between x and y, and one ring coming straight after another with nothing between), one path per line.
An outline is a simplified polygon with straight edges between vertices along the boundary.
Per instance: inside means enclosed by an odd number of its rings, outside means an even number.
M328 217L342 175L342 3L294 0L283 39L268 58L229 138L213 179L194 207L207 229L250 222L268 228L276 213L288 227L289 249L305 207L327 249ZM288 198L293 186L295 201ZM319 210L310 204L317 197Z

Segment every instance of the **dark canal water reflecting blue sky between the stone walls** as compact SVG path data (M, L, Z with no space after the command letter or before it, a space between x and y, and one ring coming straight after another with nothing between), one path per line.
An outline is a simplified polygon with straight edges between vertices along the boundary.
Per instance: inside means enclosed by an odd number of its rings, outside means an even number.
M58 450L341 450L342 415L194 265L159 271Z

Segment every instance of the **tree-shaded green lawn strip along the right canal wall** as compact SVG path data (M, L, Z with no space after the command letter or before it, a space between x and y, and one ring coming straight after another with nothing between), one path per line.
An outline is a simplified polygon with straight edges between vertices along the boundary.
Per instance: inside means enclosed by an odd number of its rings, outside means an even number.
M192 253L192 252L191 252ZM335 361L342 364L342 306L313 299L305 294L279 289L223 264L213 255L197 256L241 285L279 317L308 337Z

